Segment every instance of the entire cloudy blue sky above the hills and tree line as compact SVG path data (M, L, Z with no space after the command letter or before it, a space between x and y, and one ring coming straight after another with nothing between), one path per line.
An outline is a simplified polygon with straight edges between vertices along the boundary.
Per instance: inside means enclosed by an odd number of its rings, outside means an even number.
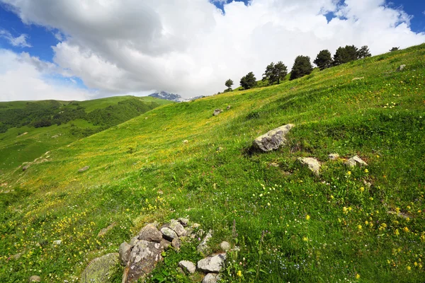
M297 55L423 42L417 0L0 0L0 101L208 96Z

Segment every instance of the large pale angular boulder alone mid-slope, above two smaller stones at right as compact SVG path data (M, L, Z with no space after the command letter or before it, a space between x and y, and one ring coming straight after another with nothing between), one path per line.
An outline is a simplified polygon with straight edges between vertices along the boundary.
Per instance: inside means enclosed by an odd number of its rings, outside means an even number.
M254 139L254 148L261 149L261 151L272 151L278 149L286 143L285 135L288 134L290 129L294 127L293 124L284 125L263 134Z

